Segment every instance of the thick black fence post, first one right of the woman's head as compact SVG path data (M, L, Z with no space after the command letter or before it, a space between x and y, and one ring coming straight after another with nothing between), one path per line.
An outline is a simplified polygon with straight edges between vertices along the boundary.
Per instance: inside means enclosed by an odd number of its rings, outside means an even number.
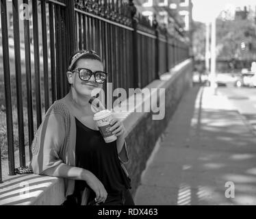
M135 17L137 8L133 3L133 0L129 0L129 11L132 21L133 33L132 33L132 55L133 55L133 88L140 88L141 81L138 74L138 41L137 41L137 25L138 21Z

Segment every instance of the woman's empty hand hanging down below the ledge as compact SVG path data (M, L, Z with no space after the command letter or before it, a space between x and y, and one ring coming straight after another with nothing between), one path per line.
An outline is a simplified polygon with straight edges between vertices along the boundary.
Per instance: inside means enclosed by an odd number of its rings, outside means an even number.
M107 199L107 191L105 190L101 181L99 181L99 179L92 172L89 173L86 183L95 192L95 201L97 201L97 203L105 203Z

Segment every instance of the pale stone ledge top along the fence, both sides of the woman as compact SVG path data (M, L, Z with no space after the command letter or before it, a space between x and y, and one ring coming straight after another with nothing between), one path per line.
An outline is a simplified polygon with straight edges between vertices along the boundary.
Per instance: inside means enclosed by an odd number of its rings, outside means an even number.
M179 73L182 73L183 69L191 63L192 60L185 60L146 88L168 88ZM145 100L150 98L151 96L145 96ZM147 113L121 112L115 115L123 120L128 136ZM64 200L64 181L57 177L20 175L11 177L0 184L0 205L62 205Z

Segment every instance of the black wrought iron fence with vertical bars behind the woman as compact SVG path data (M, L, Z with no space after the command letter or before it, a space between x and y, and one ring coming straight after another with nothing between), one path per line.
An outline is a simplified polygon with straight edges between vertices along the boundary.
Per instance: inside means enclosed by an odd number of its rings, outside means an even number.
M5 100L0 102L0 128L5 132L3 145L8 145L9 175L15 175L16 148L19 166L25 166L42 116L68 92L65 73L77 49L97 51L110 75L108 82L125 90L143 88L189 56L178 32L170 34L156 22L151 25L132 0L0 2L0 95ZM28 19L21 19L21 4L24 13L29 6Z

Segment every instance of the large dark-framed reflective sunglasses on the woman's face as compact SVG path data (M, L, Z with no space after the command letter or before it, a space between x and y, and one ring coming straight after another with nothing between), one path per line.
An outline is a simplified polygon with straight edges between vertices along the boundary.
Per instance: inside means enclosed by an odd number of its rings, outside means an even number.
M82 81L89 81L90 78L92 77L92 75L94 75L95 81L97 83L105 83L106 79L107 79L107 73L97 70L94 73L92 72L92 70L88 69L88 68L77 68L76 70L72 71L79 73L79 78Z

